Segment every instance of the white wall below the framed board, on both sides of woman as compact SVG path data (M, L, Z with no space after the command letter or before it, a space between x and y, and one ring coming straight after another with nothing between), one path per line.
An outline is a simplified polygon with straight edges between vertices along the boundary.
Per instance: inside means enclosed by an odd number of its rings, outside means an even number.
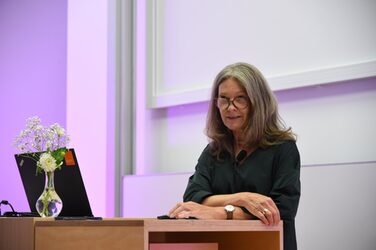
M376 161L369 156L376 156L376 77L286 90L277 97L281 115L298 134L303 163L299 249L373 250ZM146 111L150 130L145 131L144 162L149 168L124 177L123 216L156 217L182 200L206 145L206 107Z

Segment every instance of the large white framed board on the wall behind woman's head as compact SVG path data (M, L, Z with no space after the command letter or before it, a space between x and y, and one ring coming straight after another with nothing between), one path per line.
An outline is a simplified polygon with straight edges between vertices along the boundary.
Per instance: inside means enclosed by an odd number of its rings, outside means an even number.
M229 62L257 65L273 90L376 74L375 1L146 3L152 107L206 100Z

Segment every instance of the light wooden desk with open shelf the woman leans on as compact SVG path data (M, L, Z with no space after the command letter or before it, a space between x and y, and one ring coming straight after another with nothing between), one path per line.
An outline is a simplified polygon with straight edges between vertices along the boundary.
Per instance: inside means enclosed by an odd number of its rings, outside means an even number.
M236 220L0 218L0 249L146 250L166 243L216 243L220 250L282 250L282 232L282 222L265 226Z

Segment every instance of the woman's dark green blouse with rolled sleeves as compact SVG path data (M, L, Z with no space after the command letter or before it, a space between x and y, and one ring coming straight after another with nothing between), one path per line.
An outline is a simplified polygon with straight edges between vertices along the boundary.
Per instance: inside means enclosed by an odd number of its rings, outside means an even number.
M283 220L284 249L297 249L294 219L300 198L300 156L295 142L259 148L239 165L230 154L217 160L208 145L189 178L184 201L201 203L211 195L238 192L272 198Z

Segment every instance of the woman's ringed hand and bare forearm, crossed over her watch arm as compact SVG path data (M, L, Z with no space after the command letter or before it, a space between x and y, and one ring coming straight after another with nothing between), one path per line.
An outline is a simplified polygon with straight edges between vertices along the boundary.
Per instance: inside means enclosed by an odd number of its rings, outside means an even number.
M265 195L241 192L231 195L228 204L246 208L266 225L276 225L281 220L279 210L274 201Z

